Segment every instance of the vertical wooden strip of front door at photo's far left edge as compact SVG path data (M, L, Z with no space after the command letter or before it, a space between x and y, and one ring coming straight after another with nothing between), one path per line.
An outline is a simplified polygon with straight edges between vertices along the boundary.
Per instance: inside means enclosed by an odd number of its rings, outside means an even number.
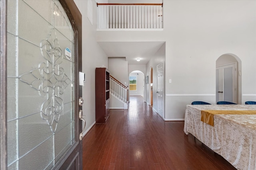
M7 7L0 0L0 169L7 169Z

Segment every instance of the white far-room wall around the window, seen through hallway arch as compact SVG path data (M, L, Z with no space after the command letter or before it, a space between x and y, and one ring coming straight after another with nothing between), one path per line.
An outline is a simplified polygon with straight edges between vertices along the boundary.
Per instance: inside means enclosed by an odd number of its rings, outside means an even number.
M137 90L130 90L130 95L144 96L144 82L146 81L146 77L144 78L144 74L142 72L131 72L130 76L137 77Z

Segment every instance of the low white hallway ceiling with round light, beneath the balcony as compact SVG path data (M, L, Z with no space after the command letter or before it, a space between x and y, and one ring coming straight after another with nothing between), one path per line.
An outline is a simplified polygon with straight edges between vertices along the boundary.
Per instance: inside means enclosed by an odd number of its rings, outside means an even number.
M128 64L147 64L164 44L158 42L98 42L108 57L125 57ZM140 61L136 61L140 59Z

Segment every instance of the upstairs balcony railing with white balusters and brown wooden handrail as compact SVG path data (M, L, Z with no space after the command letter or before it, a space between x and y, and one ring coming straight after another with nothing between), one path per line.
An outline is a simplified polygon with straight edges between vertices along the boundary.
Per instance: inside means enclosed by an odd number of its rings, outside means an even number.
M98 29L163 28L163 4L99 4Z

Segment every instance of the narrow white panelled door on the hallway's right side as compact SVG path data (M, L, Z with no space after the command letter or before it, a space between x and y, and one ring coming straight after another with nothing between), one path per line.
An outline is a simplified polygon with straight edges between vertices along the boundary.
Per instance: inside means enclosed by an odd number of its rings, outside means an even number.
M157 111L164 118L164 62L157 65Z

